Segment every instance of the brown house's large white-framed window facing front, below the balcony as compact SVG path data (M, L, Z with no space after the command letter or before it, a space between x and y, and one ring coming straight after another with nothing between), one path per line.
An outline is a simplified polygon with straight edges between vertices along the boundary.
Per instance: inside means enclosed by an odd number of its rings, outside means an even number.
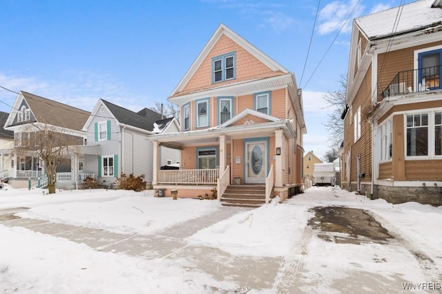
M428 155L428 114L407 115L407 156Z

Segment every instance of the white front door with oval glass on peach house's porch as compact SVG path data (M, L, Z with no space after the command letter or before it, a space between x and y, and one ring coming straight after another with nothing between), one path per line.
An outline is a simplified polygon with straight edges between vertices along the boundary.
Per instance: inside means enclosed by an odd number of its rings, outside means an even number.
M245 182L249 184L265 184L265 177L267 176L267 142L248 142L245 147Z

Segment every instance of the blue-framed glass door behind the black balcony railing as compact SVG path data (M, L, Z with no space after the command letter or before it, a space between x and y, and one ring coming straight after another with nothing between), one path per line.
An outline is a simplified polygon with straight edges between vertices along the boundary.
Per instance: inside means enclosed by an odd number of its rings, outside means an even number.
M437 49L436 49L437 48ZM442 48L435 50L418 50L418 85L420 91L441 89L441 55Z

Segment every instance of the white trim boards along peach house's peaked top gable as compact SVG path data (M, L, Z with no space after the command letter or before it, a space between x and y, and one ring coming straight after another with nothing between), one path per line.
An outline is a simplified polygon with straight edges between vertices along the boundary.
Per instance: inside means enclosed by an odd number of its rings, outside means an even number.
M200 67L201 63L206 59L206 56L209 55L209 52L211 52L213 46L218 42L220 37L222 35L225 35L232 39L235 43L240 45L244 50L247 50L250 54L256 57L259 61L261 61L263 64L265 64L267 67L269 67L271 70L275 71L281 71L283 73L288 73L289 71L271 59L267 54L256 48L255 45L249 43L246 39L242 38L239 34L236 32L233 32L230 28L227 27L227 25L224 25L224 23L221 23L218 28L215 30L213 35L211 36L211 39L209 39L209 42L206 43L200 54L198 54L195 61L193 61L191 67L189 70L187 70L186 74L184 74L184 77L181 79L180 83L175 87L173 92L171 93L170 97L175 96L177 93L181 92L184 87L189 82L190 78L195 74L195 72Z

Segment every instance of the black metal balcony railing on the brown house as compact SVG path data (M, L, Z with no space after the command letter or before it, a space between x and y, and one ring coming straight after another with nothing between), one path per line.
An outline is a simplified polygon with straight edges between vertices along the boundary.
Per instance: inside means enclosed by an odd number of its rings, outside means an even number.
M440 90L442 65L398 72L382 92L382 98L427 90Z

